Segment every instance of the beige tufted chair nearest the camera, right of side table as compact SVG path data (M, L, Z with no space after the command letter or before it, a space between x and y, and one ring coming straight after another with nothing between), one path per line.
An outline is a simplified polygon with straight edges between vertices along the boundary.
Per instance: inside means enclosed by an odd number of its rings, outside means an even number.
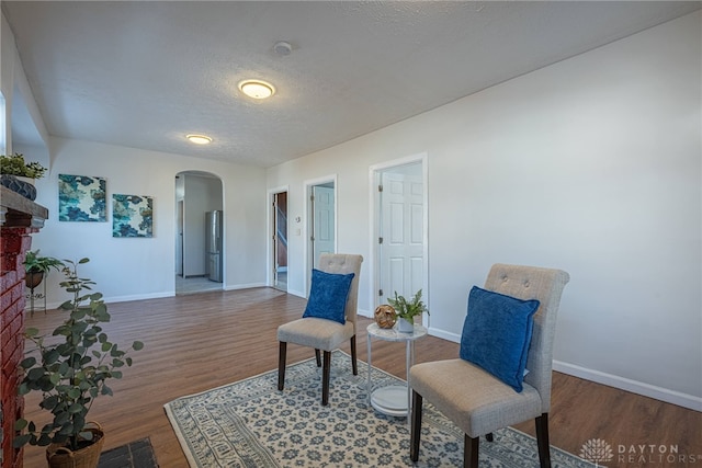
M457 358L417 364L409 373L412 388L410 458L420 448L422 401L427 399L465 433L463 466L477 468L479 436L492 441L492 432L530 419L536 423L541 467L551 467L548 410L553 340L561 294L568 273L561 270L492 265L485 289L520 299L539 299L529 349L523 390L510 386L480 367Z

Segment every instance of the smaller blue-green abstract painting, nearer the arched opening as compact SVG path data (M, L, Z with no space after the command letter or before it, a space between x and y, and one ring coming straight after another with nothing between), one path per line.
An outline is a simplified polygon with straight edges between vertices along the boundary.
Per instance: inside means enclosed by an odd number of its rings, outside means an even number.
M112 195L112 237L151 237L154 198Z

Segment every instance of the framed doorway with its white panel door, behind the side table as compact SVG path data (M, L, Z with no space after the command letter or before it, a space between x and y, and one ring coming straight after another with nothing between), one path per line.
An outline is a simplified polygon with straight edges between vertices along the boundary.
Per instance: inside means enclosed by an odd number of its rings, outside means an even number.
M373 180L373 307L395 293L422 290L428 301L428 204L426 156L371 168ZM423 320L428 318L424 315ZM427 326L428 323L424 323Z

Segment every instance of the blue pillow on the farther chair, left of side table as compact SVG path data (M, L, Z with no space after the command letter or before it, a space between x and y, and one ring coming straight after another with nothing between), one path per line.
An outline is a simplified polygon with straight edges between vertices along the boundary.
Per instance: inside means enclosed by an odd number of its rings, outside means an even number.
M312 288L303 318L316 317L333 320L344 324L347 322L347 299L354 273L340 275L312 270Z

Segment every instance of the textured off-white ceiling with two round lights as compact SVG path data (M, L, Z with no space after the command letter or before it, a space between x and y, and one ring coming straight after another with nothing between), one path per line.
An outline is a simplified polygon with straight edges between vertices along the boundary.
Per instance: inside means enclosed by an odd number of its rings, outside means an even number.
M670 1L2 2L50 135L260 167L699 8ZM278 41L290 42L292 54L276 55ZM268 101L244 96L237 83L248 78L274 83L278 93ZM32 138L27 122L19 106L15 141ZM184 139L191 133L214 141L195 147Z

